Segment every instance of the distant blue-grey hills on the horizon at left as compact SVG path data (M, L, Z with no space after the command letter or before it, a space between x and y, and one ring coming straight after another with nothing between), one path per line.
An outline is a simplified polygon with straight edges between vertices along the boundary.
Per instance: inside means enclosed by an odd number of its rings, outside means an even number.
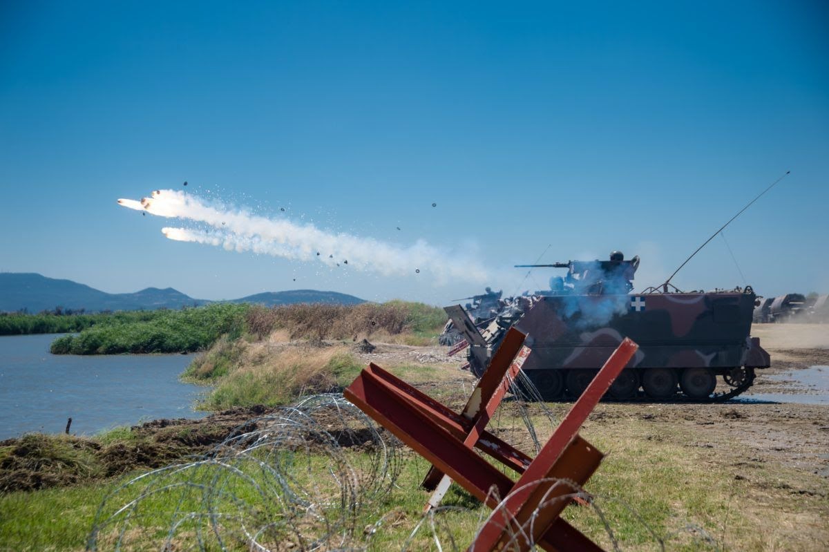
M0 273L0 312L53 310L55 307L98 311L135 311L140 309L181 308L211 303L194 299L173 288L146 288L135 293L106 293L83 283L46 278L35 273ZM337 292L297 289L293 291L257 293L231 299L230 303L261 303L267 306L290 303L365 303L361 298Z

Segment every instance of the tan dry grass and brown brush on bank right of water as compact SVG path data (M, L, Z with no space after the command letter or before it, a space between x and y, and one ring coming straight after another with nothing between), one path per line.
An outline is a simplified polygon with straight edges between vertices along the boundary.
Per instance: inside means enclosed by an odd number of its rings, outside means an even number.
M340 390L361 366L342 343L371 337L405 345L437 341L446 314L423 303L295 304L250 307L249 338L221 338L197 356L183 377L216 388L206 409L288 404L302 395ZM305 341L301 341L305 340Z

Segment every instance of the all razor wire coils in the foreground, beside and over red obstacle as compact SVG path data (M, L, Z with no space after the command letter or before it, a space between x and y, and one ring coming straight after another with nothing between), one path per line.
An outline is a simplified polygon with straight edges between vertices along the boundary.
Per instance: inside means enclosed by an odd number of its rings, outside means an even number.
M531 381L519 372L493 432L523 432L526 447L541 442L535 419L550 429L555 415ZM517 415L514 415L517 414ZM524 426L524 427L520 427ZM525 451L528 452L528 451ZM314 395L274 414L251 419L209 453L162 467L119 484L99 506L87 550L466 550L487 523L503 530L502 550L536 550L536 525L550 507L563 509L579 499L580 524L595 516L594 540L622 550L607 511L627 511L626 530L641 525L637 549L683 540L701 550L719 550L700 525L686 523L660 535L637 509L614 496L588 492L575 482L547 478L492 496L489 511L471 496L422 516L395 505L396 482L414 454L339 394ZM539 504L518 521L505 505L516 492L545 486ZM458 490L465 496L467 493ZM424 493L425 496L425 493ZM490 501L492 503L492 501ZM465 504L463 504L465 503ZM471 529L471 520L477 523ZM369 521L369 525L363 526ZM371 520L376 520L373 523ZM411 525L414 523L414 525ZM463 524L458 528L458 524ZM384 531L411 526L392 545ZM477 529L476 529L477 528ZM601 536L604 530L606 538ZM594 530L594 533L596 531ZM462 536L467 535L467 536ZM642 536L645 535L645 536ZM642 542L644 540L644 542ZM474 550L474 547L473 549Z

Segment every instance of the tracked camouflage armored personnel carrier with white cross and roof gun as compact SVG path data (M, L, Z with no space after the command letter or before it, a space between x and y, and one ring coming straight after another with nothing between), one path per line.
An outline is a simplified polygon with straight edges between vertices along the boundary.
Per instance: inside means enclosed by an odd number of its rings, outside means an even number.
M607 261L519 265L567 273L480 325L459 305L445 310L479 376L509 327L526 333L532 352L523 370L545 399L580 395L624 337L639 350L608 390L613 399L724 401L753 384L755 369L768 368L768 352L749 335L751 288L684 293L666 283L630 293L638 265L618 251Z

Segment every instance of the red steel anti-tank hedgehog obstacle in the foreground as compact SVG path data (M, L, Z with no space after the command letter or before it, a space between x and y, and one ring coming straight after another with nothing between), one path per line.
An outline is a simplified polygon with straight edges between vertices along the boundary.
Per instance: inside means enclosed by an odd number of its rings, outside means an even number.
M520 453L522 458L511 456L518 451L500 439L496 441L484 429L506 394L509 380L520 369L520 361L514 370L512 361L523 341L523 336L519 337L518 341L511 337L503 350L502 356L512 351L507 362L501 358L496 364L493 358L496 369L479 382L463 414L454 413L375 365L362 370L344 395L431 462L436 470L452 477L495 510L470 550L529 550L533 544L560 552L601 550L562 520L560 513L603 458L602 453L579 437L579 429L638 346L629 339L622 342L538 456L527 462L525 454ZM475 453L473 447L507 465L520 463L521 469L516 471L522 472L521 477L512 482Z

